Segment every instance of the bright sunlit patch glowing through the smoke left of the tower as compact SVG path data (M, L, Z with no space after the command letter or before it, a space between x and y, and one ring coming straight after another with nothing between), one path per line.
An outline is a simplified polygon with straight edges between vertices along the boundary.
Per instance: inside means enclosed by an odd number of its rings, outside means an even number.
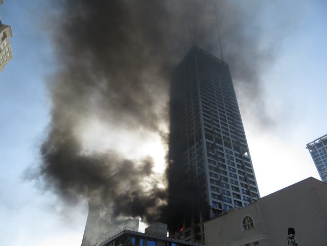
M165 171L167 146L161 142L157 132L144 128L129 131L120 128L119 124L108 126L96 118L83 121L77 129L85 152L104 152L112 149L132 160L151 156L155 163L153 170L161 174Z

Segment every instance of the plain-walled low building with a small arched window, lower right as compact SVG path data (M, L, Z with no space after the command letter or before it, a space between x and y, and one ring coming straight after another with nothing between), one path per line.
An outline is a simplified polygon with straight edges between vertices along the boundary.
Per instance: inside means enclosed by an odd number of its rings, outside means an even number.
M205 223L206 246L326 245L326 194L310 177L229 211Z

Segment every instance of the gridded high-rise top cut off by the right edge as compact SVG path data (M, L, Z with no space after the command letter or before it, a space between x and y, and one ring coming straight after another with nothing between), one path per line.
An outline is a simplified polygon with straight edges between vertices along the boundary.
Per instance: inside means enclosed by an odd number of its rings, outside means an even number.
M307 144L322 182L327 183L327 134Z

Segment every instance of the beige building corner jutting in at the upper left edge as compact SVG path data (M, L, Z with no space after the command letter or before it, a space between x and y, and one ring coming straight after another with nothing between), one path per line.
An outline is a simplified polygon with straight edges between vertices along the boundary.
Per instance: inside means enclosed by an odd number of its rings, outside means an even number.
M0 0L0 4L4 2ZM9 38L12 37L11 27L2 24L0 19L0 73L13 58Z

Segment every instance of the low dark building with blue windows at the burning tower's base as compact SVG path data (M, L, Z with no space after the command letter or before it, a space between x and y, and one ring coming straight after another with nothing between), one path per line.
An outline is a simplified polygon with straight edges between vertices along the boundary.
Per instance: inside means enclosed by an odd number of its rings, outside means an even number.
M99 245L99 244L98 244ZM103 241L100 246L203 246L167 237L167 225L155 223L145 233L124 228Z

